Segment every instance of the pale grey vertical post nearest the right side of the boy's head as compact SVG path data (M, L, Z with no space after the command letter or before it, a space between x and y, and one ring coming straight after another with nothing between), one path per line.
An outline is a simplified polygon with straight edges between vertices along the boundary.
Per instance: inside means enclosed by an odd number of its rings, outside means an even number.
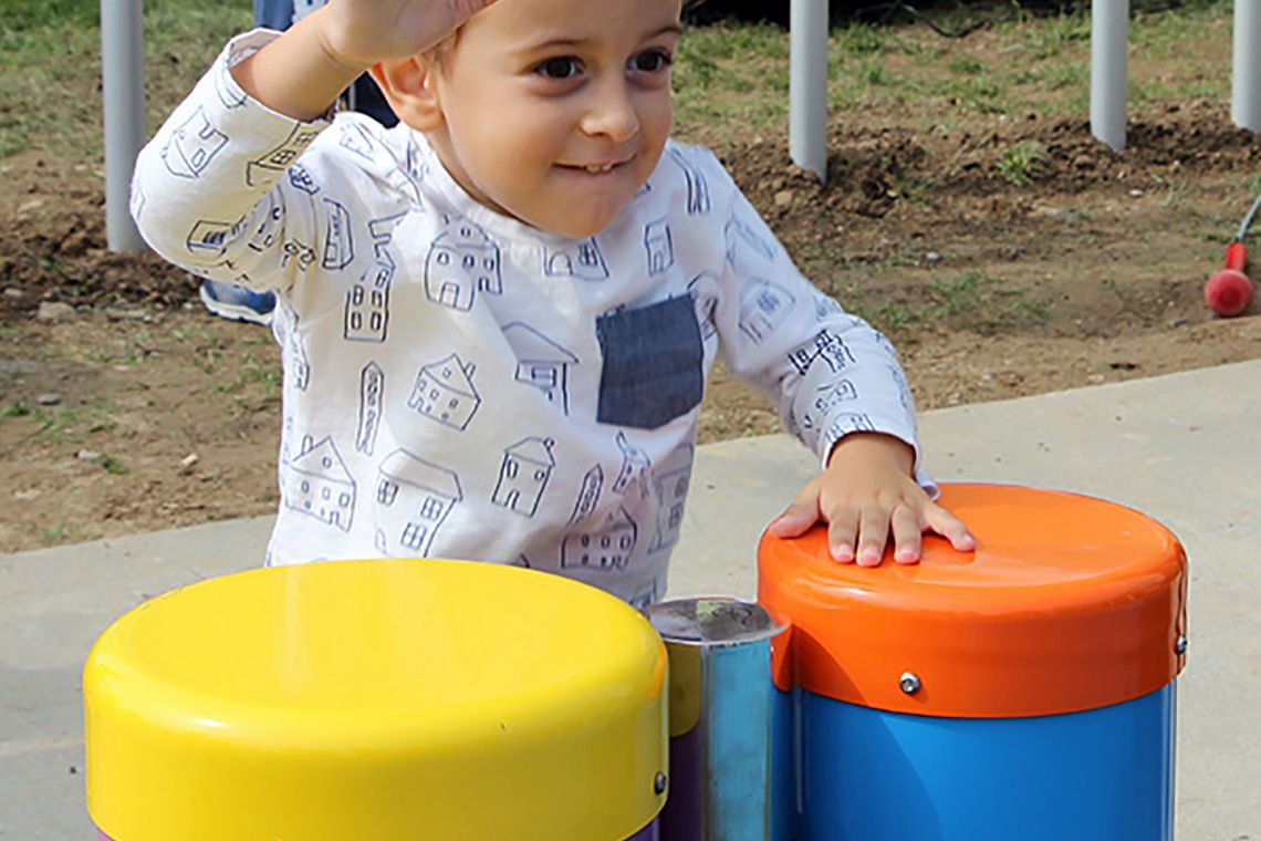
M827 0L792 0L788 154L827 180Z

